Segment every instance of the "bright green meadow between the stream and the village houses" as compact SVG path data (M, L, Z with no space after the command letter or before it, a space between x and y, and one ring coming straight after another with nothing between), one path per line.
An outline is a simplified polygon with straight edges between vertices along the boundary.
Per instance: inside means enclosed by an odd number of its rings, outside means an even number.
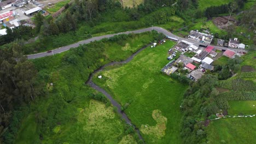
M94 82L123 105L131 121L147 143L180 143L179 105L187 86L160 73L168 61L167 51L174 43L148 47L131 62L107 68ZM102 75L102 79L97 76Z

